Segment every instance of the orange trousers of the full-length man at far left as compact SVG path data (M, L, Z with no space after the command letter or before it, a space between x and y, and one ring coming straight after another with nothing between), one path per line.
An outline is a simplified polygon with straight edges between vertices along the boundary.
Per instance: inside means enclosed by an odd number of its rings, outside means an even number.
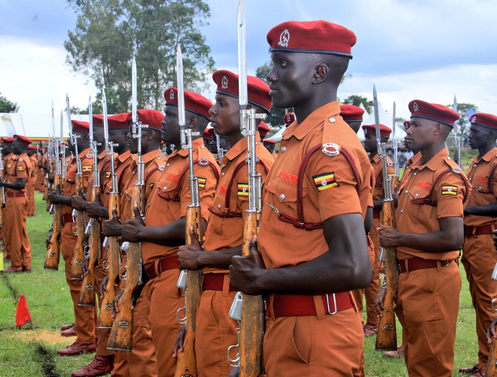
M3 211L3 235L5 246L10 249L11 265L31 266L31 244L26 229L28 198L7 198L6 202Z

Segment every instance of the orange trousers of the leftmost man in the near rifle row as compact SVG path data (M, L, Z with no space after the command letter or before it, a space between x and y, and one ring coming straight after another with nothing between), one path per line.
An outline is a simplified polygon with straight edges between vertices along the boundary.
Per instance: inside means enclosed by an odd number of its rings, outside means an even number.
M74 318L76 322L76 342L88 344L95 342L95 316L96 308L91 306L79 306L81 280L71 280L71 263L74 256L74 246L77 236L73 234L73 226L76 223L66 223L61 230L61 253L66 263L66 282L69 286L71 299L74 306Z

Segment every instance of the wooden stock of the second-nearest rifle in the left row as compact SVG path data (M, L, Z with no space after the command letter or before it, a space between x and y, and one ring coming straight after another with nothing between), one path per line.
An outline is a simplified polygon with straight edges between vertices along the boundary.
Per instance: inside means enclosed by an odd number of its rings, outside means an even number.
M191 243L190 227L193 226L197 239L202 242L202 212L200 207L188 206L185 219L185 241ZM185 310L186 331L183 341L183 352L178 352L176 373L174 377L197 377L197 361L195 358L195 329L197 306L200 300L200 270L188 270L186 273Z

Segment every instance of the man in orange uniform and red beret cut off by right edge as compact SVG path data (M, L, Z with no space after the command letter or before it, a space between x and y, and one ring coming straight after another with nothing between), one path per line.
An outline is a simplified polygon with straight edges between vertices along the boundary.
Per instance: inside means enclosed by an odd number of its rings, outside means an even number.
M478 149L471 159L468 178L473 190L464 210L464 245L461 262L466 270L469 291L476 310L476 333L478 336L478 364L461 368L461 373L472 373L474 377L485 376L489 357L487 328L494 318L489 305L497 294L491 280L497 254L492 244L492 230L497 223L497 117L486 113L473 114L469 145Z

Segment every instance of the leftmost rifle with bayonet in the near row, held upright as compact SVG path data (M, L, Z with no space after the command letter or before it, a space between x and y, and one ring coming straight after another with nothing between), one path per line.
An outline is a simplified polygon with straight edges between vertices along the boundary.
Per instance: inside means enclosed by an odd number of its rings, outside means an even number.
M61 112L62 116L62 112ZM63 118L61 117L61 131L63 126ZM55 145L55 155L59 156L59 142L55 139L55 121L54 121L54 102L52 101L52 131L53 131L53 144ZM62 141L62 135L61 139ZM62 181L62 161L57 158L55 166L54 175L54 189L61 188ZM45 265L43 268L45 270L55 270L59 269L59 259L60 259L60 242L61 242L61 230L62 230L62 206L60 203L52 204L54 218L52 221L52 235L50 236L50 241L47 244L47 255L45 257Z

